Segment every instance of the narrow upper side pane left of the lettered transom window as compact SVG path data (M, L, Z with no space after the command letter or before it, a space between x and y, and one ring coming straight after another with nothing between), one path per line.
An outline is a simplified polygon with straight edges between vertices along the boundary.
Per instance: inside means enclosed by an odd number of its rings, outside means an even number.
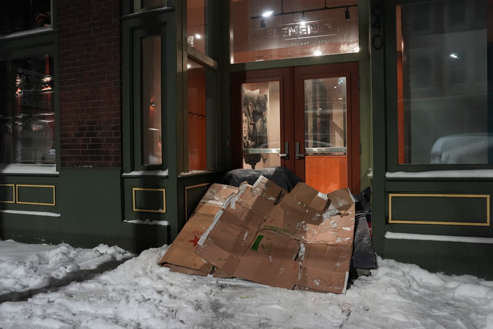
M213 16L208 0L187 0L187 43L211 56Z

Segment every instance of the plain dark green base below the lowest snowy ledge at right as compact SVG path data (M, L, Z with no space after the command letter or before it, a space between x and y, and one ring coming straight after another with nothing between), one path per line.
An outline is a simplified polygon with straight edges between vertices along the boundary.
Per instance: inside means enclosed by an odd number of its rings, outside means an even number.
M430 272L493 280L491 244L386 239L385 257L414 263Z

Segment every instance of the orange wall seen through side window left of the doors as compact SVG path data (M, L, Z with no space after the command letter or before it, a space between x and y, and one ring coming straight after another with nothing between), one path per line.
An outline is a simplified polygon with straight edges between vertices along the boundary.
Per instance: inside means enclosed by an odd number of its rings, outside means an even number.
M207 169L206 73L188 70L188 169Z

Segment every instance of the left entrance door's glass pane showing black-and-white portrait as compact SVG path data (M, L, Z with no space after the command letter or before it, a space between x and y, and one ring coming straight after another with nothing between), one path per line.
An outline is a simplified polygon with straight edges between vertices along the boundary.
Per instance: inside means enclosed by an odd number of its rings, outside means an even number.
M280 110L279 81L242 85L243 168L281 165Z

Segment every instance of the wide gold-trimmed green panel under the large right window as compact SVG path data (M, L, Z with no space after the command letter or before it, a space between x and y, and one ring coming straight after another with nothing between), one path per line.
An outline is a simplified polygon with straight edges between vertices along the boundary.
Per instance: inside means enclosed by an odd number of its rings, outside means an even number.
M390 196L389 222L428 221L440 224L489 223L487 197Z

